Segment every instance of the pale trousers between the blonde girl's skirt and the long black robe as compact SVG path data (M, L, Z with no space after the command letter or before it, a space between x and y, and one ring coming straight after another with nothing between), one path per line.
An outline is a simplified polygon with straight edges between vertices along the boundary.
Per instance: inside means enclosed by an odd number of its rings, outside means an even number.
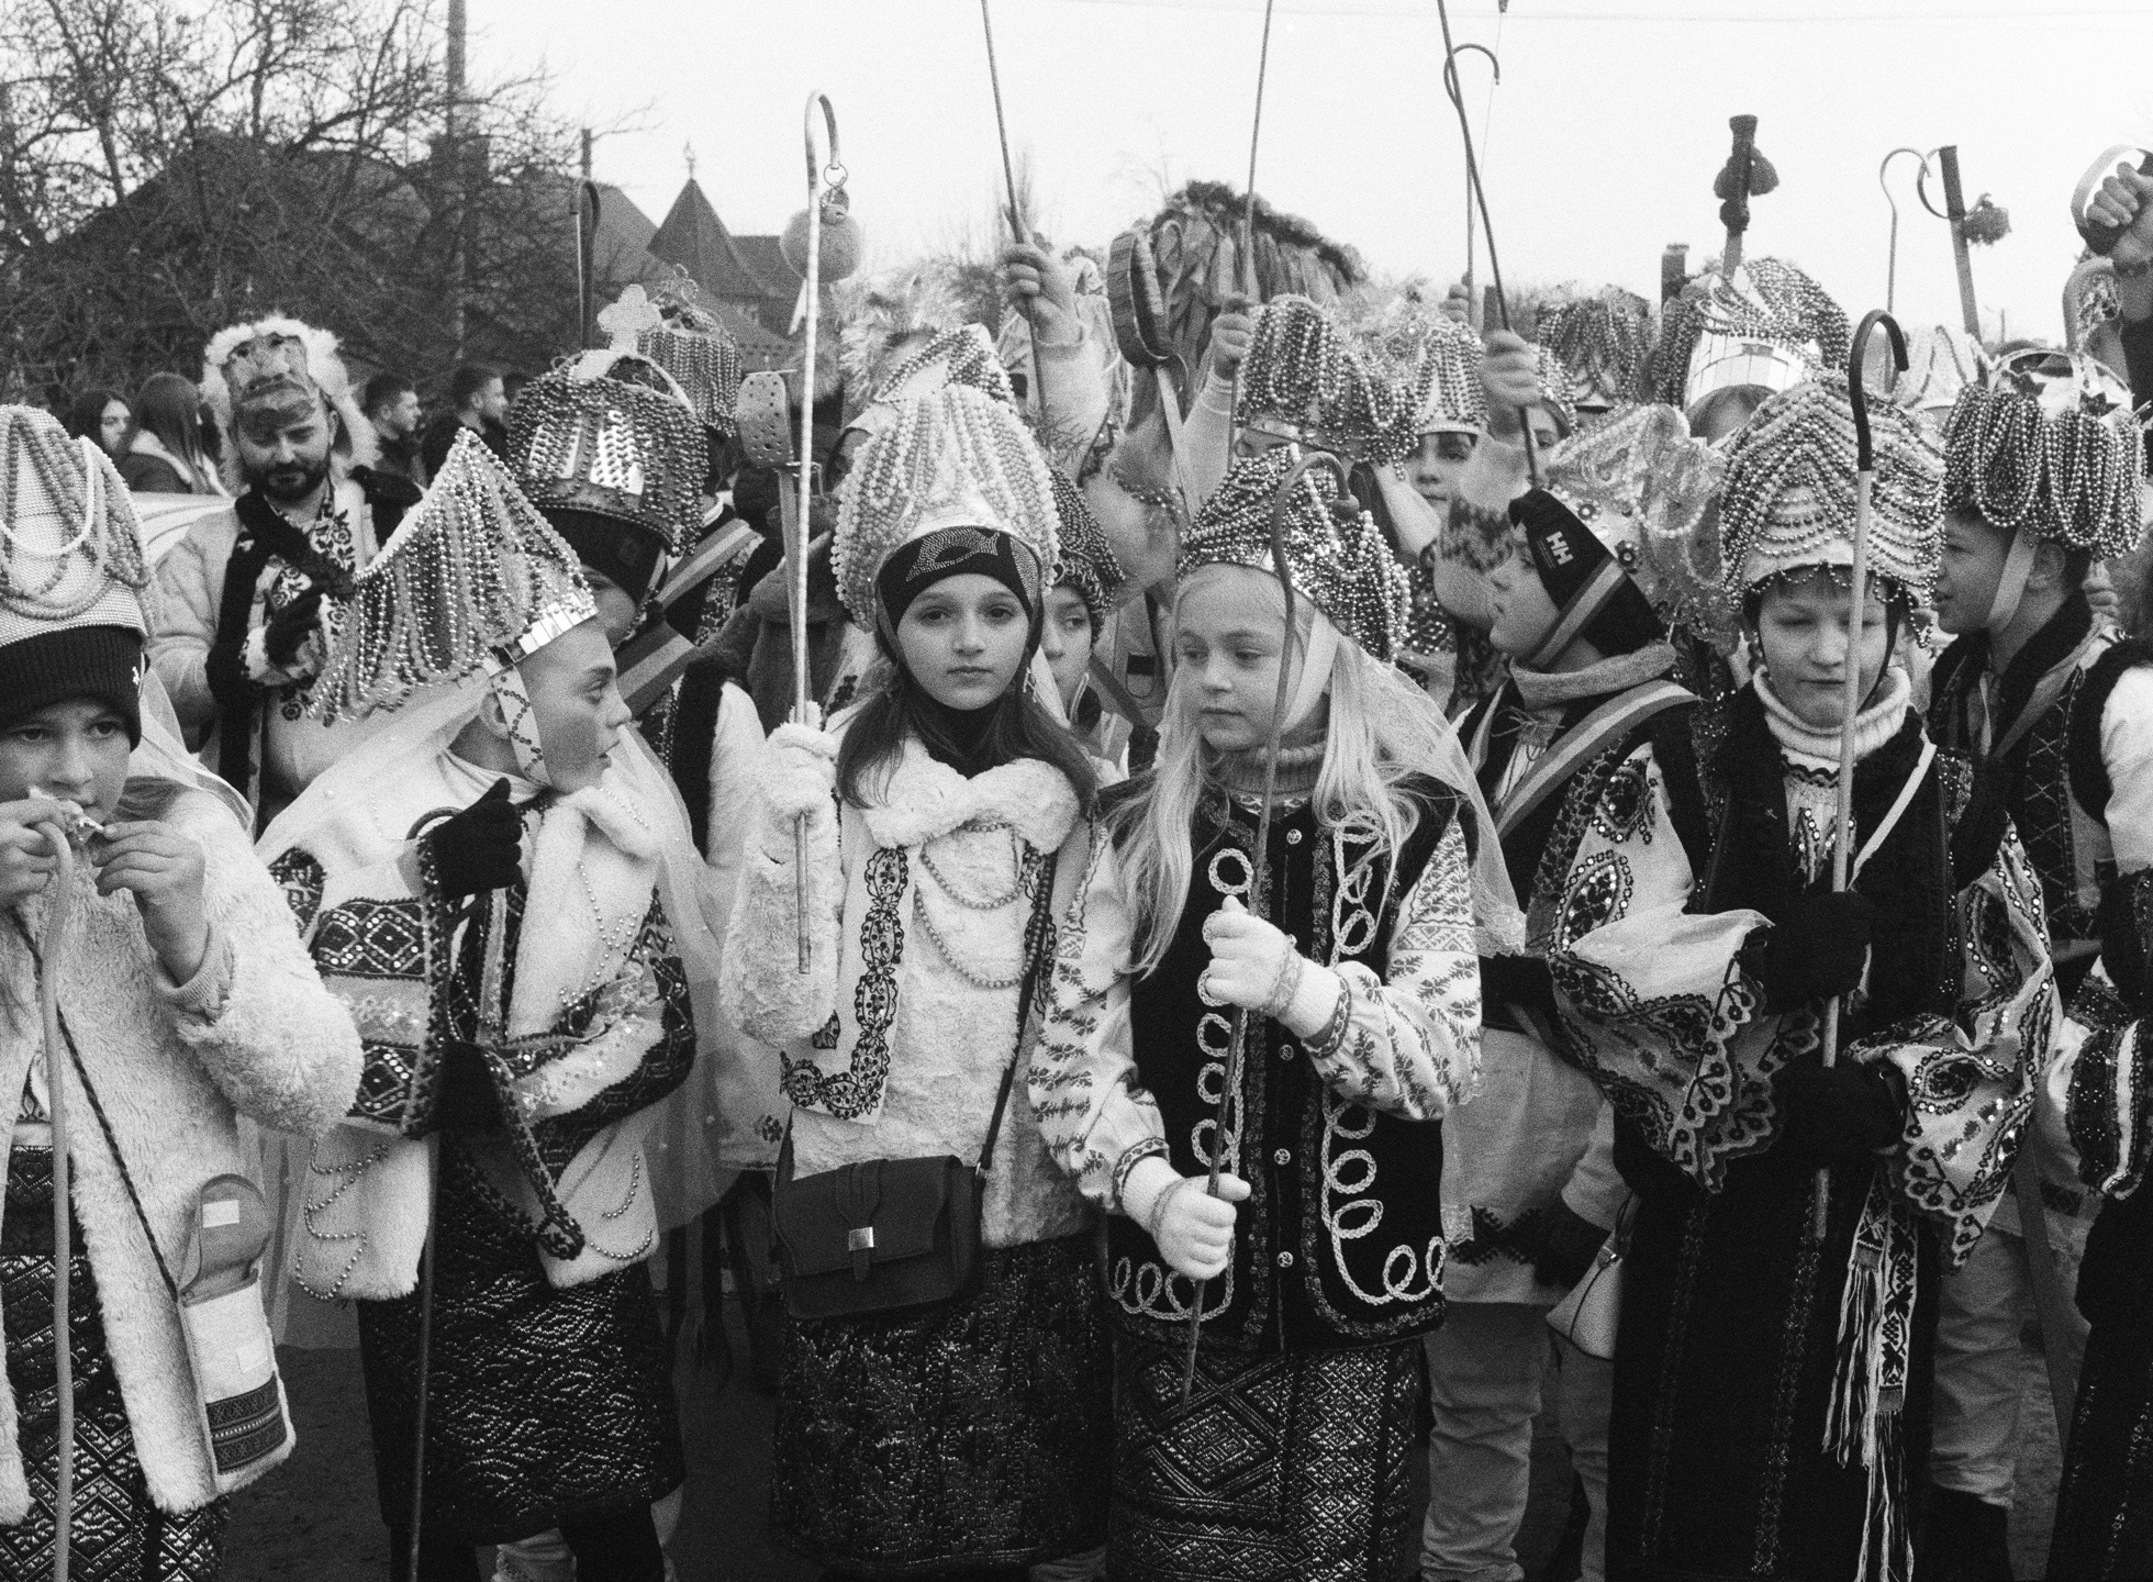
M1602 1580L1615 1365L1557 1337L1537 1304L1458 1302L1427 1337L1434 1431L1421 1576L1430 1582L1522 1582L1516 1541L1544 1384L1591 1502L1585 1582Z

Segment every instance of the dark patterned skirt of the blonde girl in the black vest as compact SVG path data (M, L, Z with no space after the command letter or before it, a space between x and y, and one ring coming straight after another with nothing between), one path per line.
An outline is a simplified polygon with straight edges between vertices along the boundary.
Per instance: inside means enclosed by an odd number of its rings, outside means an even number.
M1197 1354L1115 1347L1115 1582L1393 1582L1412 1541L1421 1343Z

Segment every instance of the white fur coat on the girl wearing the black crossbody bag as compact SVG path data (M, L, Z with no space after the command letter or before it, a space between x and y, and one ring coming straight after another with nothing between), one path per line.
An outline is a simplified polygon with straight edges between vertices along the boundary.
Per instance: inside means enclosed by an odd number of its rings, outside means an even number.
M1057 889L1083 876L1087 827L1074 790L1033 758L965 779L906 740L876 805L810 816L812 956L801 973L799 788L779 777L773 751L749 818L719 1001L784 1053L799 1173L870 1158L977 1158L1001 1076L1018 1059L1025 863L1059 850ZM986 1184L988 1246L1087 1223L1023 1096L1018 1063Z

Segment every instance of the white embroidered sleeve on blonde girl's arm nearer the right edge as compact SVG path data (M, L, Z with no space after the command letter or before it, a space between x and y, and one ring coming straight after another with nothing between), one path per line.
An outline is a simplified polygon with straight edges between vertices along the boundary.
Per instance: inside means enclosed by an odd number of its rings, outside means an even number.
M1389 979L1307 962L1281 1018L1331 1091L1389 1115L1440 1119L1479 1087L1479 954L1464 829L1443 831L1391 930Z

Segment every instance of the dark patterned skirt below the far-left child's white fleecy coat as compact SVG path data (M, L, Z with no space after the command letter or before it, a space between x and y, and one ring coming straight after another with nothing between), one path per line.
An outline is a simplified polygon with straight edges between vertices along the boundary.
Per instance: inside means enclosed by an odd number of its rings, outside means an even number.
M15 1147L0 1216L0 1328L15 1393L15 1442L30 1477L30 1517L0 1526L0 1576L52 1573L52 1500L60 1464L60 1390L52 1332L52 1149ZM82 1251L69 1255L67 1330L75 1365L75 1507L69 1576L78 1582L211 1582L224 1548L226 1505L168 1515L149 1500L121 1384L105 1350L97 1279Z

